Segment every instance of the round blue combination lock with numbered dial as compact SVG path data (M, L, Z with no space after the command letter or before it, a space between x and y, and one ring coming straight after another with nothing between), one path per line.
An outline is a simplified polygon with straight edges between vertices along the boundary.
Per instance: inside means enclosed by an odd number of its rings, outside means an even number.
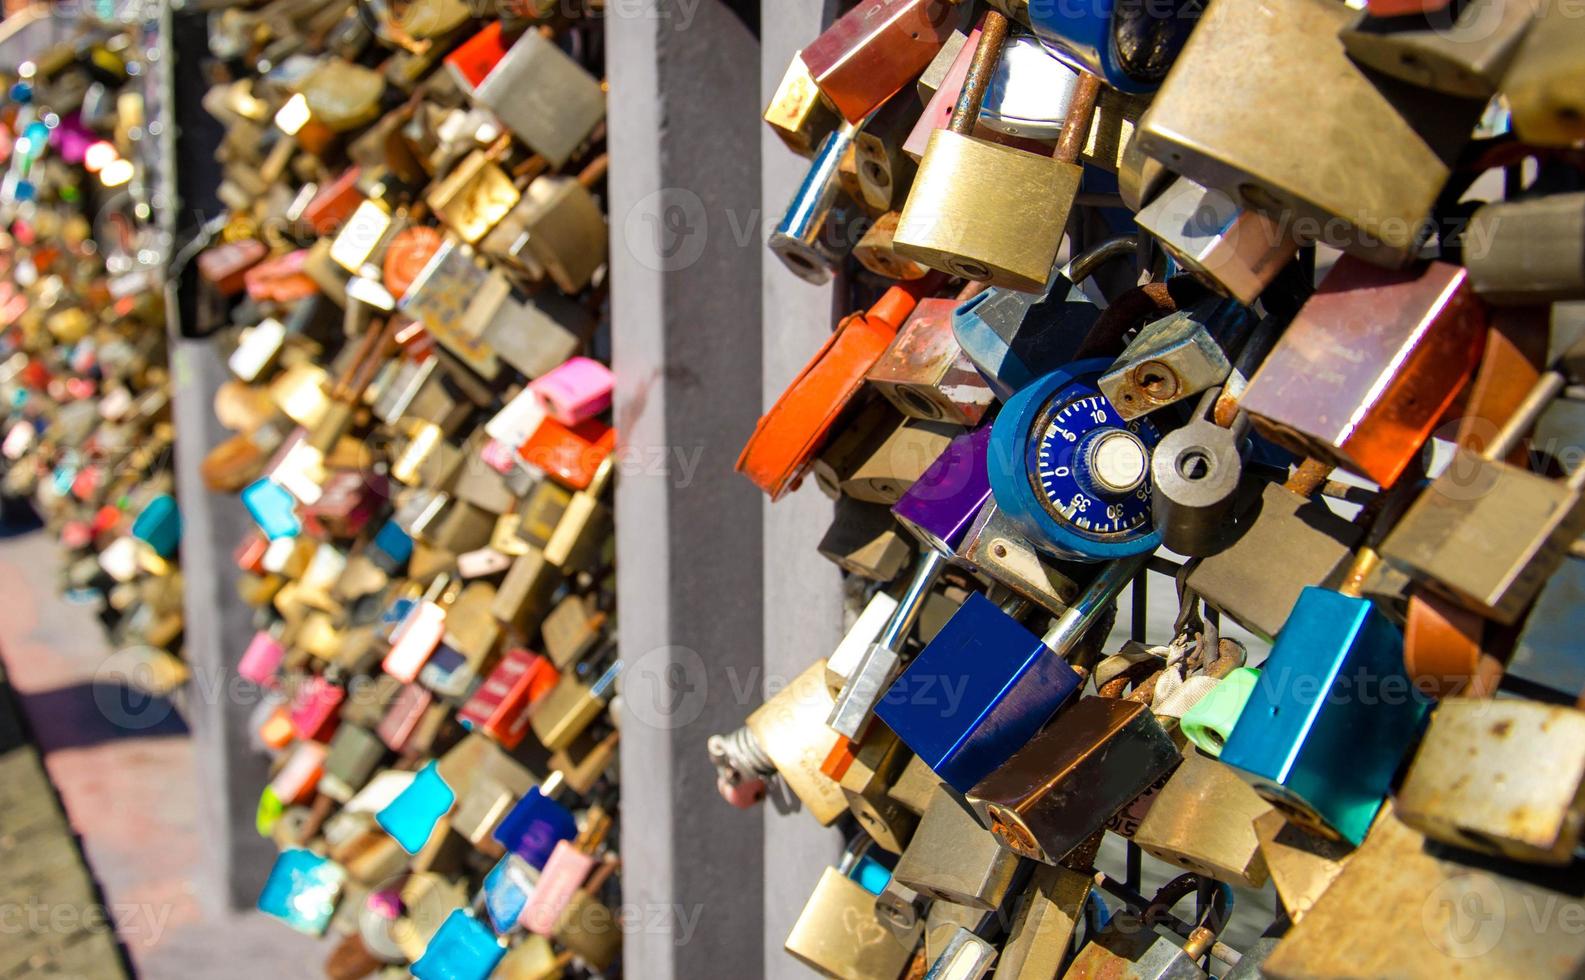
M991 430L991 492L1035 547L1110 561L1154 552L1149 419L1124 422L1097 379L1111 362L1081 360L1022 389Z

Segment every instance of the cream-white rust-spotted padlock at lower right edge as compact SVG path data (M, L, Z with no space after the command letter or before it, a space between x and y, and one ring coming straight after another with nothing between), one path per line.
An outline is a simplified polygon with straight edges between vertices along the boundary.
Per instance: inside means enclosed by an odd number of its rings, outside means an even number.
M1580 840L1585 714L1520 699L1446 698L1393 796L1422 834L1536 864Z

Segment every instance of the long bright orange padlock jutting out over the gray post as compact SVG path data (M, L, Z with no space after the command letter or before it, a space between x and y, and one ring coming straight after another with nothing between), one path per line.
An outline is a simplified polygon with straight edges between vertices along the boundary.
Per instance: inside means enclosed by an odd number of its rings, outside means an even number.
M864 385L864 376L897 336L897 328L919 300L940 285L940 274L902 282L886 290L869 312L851 314L837 323L781 398L761 415L754 434L737 457L737 471L770 500L792 490Z

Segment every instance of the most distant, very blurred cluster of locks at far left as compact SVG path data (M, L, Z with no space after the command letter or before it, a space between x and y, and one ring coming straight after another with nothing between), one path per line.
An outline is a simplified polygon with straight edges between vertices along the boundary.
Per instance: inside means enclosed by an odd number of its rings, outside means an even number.
M101 679L163 698L187 666L147 51L132 29L65 33L0 98L0 493L5 523L59 538L60 590L117 650Z

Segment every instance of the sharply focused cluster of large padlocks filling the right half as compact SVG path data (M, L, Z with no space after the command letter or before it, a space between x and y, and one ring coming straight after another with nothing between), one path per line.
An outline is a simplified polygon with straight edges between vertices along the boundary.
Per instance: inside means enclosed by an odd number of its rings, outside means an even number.
M862 585L708 745L850 840L788 953L1577 972L1585 16L872 0L766 122L859 306L737 463Z

